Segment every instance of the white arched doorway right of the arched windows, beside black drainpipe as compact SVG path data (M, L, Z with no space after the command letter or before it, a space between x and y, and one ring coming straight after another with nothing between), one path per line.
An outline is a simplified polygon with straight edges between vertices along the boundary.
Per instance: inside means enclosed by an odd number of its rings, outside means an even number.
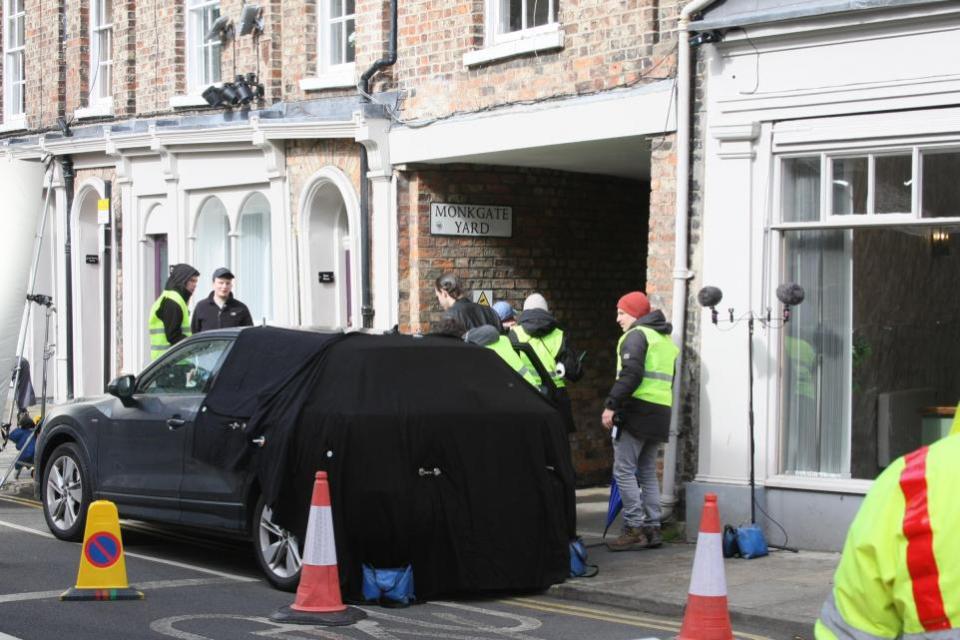
M301 199L302 322L319 327L360 326L359 207L339 169L318 172Z

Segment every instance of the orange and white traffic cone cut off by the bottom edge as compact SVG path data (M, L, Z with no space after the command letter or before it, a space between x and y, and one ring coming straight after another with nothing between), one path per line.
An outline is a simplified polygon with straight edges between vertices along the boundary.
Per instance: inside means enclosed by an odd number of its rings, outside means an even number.
M720 511L713 493L703 499L687 609L677 640L733 640L727 610L727 578L723 572Z

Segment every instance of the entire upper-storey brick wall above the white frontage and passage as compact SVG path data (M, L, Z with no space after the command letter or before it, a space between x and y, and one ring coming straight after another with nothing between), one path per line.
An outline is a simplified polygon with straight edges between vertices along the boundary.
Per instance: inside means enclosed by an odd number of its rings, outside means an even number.
M243 0L223 0L239 20ZM352 87L304 92L316 75L317 0L263 0L265 33L223 47L222 75L257 70L267 105L331 95ZM356 77L387 49L389 0L357 0ZM372 89L405 94L404 117L471 112L630 86L670 77L676 0L558 0L565 33L559 51L523 54L465 68L463 54L484 45L484 0L412 0L399 6L399 58ZM114 108L118 117L172 111L187 90L184 0L117 0L114 20ZM52 127L56 116L85 104L89 78L89 3L27 0L28 125ZM65 27L65 30L64 30ZM61 38L65 38L61 47ZM205 109L206 107L189 110Z

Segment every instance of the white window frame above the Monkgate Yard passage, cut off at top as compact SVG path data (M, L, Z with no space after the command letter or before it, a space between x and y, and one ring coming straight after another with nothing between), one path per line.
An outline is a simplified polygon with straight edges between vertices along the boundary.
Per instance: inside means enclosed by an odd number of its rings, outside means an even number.
M523 0L524 3L533 0ZM563 27L557 19L559 0L539 0L549 2L547 24L538 27L526 27L517 31L500 31L501 0L485 0L484 46L476 51L463 54L465 67L495 62L525 53L562 49L564 43ZM526 4L524 4L526 7ZM526 10L523 11L526 21Z

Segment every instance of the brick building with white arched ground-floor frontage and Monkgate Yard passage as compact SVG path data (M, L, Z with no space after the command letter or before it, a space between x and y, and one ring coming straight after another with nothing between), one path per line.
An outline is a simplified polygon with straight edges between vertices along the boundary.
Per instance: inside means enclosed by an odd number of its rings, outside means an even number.
M672 306L679 3L399 2L375 71L384 0L2 4L0 141L55 166L57 399L144 365L170 264L197 297L229 266L258 321L405 332L454 270L517 307L543 293L589 352L573 446L583 481L609 477L616 299ZM441 235L440 204L510 224Z

